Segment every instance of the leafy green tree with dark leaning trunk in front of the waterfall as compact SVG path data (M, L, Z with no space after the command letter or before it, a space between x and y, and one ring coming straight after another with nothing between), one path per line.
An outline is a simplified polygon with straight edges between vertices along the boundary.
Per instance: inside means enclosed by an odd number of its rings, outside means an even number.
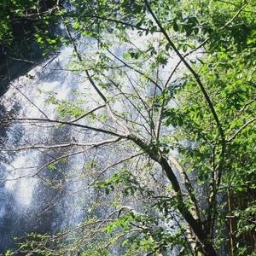
M255 3L73 0L69 4L57 2L54 12L32 16L46 23L60 20L63 38L40 32L36 38L47 52L59 44L73 47L68 69L84 75L98 104L88 109L84 102L90 98L80 90L82 103L51 95L48 102L58 108L60 119L43 113L42 118L13 117L2 123L54 123L106 137L100 142L32 148L88 150L119 142L137 148L136 154L103 168L93 183L106 194L120 191L147 206L138 212L122 205L108 218L85 221L78 229L84 234L89 227L90 237L76 234L78 243L73 245L84 255L108 255L108 247L119 241L127 255L160 255L175 249L180 255L218 255L226 245L230 255L253 254ZM90 44L86 45L90 49L83 44ZM91 118L108 126L88 125ZM47 166L64 157L68 154ZM105 176L108 169L131 160L127 169L117 168ZM173 231L166 227L170 219L176 222ZM54 238L32 235L26 249L36 247L44 254L45 247L56 247L59 255L67 250L63 241L67 233ZM99 238L99 233L107 234ZM95 247L94 237L99 239ZM58 239L61 246L55 245Z

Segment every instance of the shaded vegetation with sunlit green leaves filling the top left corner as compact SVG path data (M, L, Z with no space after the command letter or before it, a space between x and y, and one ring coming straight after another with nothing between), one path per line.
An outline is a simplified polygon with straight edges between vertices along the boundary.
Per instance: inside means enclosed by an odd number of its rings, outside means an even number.
M46 12L55 6L51 0L1 1L0 3L0 96L9 80L27 73L42 60L43 51L34 43L33 34L45 30L44 22L31 15ZM51 26L50 32L55 32Z

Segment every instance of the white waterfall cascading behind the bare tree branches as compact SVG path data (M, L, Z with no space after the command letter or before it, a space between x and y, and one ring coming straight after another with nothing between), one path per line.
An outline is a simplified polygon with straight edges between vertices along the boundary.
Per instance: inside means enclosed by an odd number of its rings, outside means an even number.
M87 45L88 40L83 43L81 45ZM143 44L143 38L137 40L137 44ZM88 47L85 50L90 52L91 49ZM125 48L116 47L113 50L121 56ZM96 131L84 131L69 125L58 126L50 122L30 121L28 124L24 120L59 119L54 101L75 102L76 91L83 91L90 98L89 102L81 103L82 108L90 110L101 106L101 98L89 81L84 82L81 73L68 71L72 55L72 48L61 49L61 54L54 61L44 62L10 84L9 91L1 99L2 118L15 116L20 120L3 127L1 131L0 252L15 246L14 236L24 236L30 232L53 234L79 224L87 214L90 215L95 199L101 194L90 187L93 177L98 176L104 166L111 166L125 154L131 154L128 148L126 152L119 150L122 145L115 146L119 154L110 153L113 148L108 146L93 148L91 143L109 139ZM177 59L173 58L173 63L166 69L175 63ZM129 94L131 89L127 86L125 90ZM146 90L146 94L153 94L152 87ZM122 102L114 103L115 110L121 106ZM104 112L103 109L101 111ZM144 122L139 115L137 120ZM80 123L83 124L83 120ZM109 125L111 122L93 120L94 127ZM68 146L77 142L86 143L75 149ZM42 144L54 147L38 147ZM58 147L58 144L67 146ZM87 168L95 164L96 168ZM92 171L88 174L87 169ZM103 216L108 211L108 206L102 205L96 214Z

